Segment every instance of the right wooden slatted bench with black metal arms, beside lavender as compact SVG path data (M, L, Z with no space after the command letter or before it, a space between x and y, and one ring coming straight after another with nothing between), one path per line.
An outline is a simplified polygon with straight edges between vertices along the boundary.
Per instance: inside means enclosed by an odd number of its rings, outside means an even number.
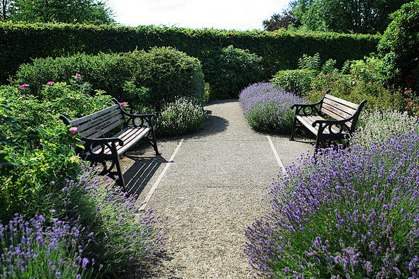
M330 90L326 91L317 103L291 106L291 109L295 108L291 141L302 127L316 135L316 148L328 147L335 142L343 143L344 139L353 133L362 107L367 101L361 101L357 105L332 96L329 92Z

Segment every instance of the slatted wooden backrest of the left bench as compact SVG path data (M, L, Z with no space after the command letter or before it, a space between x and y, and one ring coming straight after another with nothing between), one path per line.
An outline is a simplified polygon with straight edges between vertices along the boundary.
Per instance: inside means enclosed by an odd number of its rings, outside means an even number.
M85 138L99 138L124 123L124 115L117 104L69 122L71 127L78 127L78 133Z

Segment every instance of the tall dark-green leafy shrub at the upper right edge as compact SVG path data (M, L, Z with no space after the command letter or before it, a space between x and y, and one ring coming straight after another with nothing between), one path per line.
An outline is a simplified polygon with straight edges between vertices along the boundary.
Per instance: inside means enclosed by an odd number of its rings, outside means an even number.
M419 66L419 0L406 3L391 15L392 22L385 30L378 45L384 58L389 78L398 78L402 83L415 87L414 70Z

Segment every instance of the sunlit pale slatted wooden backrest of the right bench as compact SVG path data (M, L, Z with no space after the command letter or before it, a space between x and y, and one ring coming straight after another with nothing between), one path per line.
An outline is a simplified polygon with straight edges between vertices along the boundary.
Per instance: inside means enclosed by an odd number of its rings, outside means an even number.
M321 104L321 112L325 115L329 115L335 120L345 120L353 116L357 112L359 106L360 105L357 105L356 103L351 103L350 101L337 98L330 94L325 94L323 103ZM352 128L355 122L356 120L349 121L349 128Z

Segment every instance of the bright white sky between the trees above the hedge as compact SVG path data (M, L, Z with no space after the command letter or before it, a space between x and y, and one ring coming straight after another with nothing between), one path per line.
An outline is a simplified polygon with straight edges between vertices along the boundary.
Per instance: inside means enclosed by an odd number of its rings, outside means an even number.
M124 25L166 25L194 29L263 29L289 0L108 0L115 20Z

